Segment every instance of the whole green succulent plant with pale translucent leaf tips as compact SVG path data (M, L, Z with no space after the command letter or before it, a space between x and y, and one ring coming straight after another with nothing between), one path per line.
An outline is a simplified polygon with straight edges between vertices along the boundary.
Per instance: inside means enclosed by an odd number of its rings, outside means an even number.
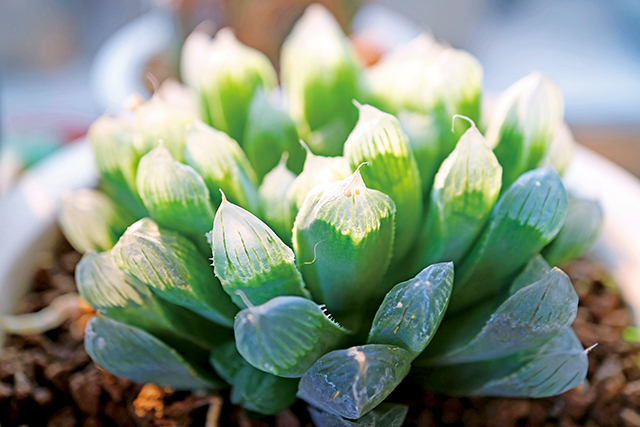
M583 382L578 296L551 265L589 249L602 213L552 166L572 143L555 84L508 89L485 139L471 55L423 36L362 71L317 5L282 72L286 109L261 54L195 34L200 116L157 94L91 127L100 188L60 211L85 253L91 357L139 382L230 385L261 414L300 398L320 427L401 425L406 407L383 402L404 380L516 397Z

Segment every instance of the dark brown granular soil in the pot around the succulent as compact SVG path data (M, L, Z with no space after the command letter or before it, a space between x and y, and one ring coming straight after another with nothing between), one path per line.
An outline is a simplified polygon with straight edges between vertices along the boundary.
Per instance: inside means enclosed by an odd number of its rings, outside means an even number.
M75 291L79 259L61 238L19 312L38 311ZM640 427L640 343L622 337L631 314L597 262L581 259L564 270L580 296L573 328L585 348L598 343L589 354L587 383L546 399L454 399L401 386L389 400L410 405L405 425ZM256 419L231 405L226 392L173 393L114 377L84 351L82 329L90 316L78 310L44 334L7 338L0 353L2 427L313 426L302 402L276 417Z

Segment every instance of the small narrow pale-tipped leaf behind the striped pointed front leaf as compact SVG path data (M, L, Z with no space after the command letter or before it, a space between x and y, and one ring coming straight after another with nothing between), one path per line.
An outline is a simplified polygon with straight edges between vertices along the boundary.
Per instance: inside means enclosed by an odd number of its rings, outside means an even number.
M284 154L278 166L265 175L258 190L260 210L265 222L286 243L291 243L291 208L287 192L296 179L296 175L287 169Z

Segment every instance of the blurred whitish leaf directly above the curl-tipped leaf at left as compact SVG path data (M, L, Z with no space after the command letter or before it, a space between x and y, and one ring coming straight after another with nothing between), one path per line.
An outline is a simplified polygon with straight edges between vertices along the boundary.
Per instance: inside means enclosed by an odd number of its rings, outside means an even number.
M133 145L138 156L142 157L162 143L171 157L181 161L185 127L196 119L158 97L136 106Z

